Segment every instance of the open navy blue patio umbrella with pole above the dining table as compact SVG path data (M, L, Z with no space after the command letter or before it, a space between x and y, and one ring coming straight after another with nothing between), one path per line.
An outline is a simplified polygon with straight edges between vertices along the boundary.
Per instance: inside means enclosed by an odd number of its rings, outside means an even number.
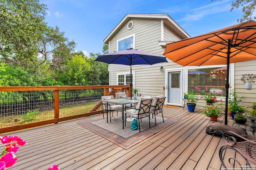
M130 66L130 86L132 89L132 65L140 64L156 64L167 62L166 57L147 53L144 51L139 51L137 49L126 49L122 51L115 51L112 53L107 53L99 55L95 61L101 61L108 64L122 64ZM131 91L132 98L132 91Z

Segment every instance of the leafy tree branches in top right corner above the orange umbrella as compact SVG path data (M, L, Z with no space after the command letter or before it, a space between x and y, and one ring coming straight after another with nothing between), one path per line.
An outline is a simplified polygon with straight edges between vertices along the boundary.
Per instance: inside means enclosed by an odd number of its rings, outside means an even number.
M256 0L235 0L232 2L231 6L232 8L230 11L234 10L234 8L237 9L240 6L242 7L243 16L242 18L237 19L238 22L256 19L256 16L253 16L256 8Z

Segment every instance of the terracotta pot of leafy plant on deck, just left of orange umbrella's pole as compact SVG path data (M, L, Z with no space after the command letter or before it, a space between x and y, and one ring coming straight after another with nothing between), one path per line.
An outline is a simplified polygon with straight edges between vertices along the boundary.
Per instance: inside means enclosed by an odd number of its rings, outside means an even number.
M206 105L204 114L210 117L211 121L217 121L220 113L222 112L222 106L219 105Z

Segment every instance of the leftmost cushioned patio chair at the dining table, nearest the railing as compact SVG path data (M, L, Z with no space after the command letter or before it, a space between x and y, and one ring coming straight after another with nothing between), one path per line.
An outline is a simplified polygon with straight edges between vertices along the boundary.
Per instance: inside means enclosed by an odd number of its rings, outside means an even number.
M101 100L110 100L110 99L114 99L114 96L101 96ZM112 111L112 117L113 117L114 111L122 112L123 106L122 105L118 105L118 104L113 104L113 103L107 104L107 102L102 102L102 108L103 108L102 109L102 111L103 111L103 119L104 119L104 112L108 108L108 111L110 112L110 122L111 122L111 111ZM116 113L116 115L117 115L117 113Z

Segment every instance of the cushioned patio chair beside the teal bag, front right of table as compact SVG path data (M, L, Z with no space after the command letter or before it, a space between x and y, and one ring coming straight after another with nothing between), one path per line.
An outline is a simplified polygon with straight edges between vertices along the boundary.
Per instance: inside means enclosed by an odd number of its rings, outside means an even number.
M150 127L149 111L150 111L151 102L152 102L152 97L141 97L135 109L128 109L125 111L125 119L126 119L126 115L136 117L139 123L139 129L140 129L140 121L142 121L142 118L148 117L149 127ZM126 122L125 122L125 126L126 126Z

